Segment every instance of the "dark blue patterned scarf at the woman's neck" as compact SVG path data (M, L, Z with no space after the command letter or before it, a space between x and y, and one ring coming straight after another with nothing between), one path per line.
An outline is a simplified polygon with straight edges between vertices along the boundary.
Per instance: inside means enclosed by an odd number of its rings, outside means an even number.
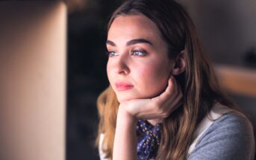
M162 124L149 124L146 120L137 121L137 158L155 159L161 139Z

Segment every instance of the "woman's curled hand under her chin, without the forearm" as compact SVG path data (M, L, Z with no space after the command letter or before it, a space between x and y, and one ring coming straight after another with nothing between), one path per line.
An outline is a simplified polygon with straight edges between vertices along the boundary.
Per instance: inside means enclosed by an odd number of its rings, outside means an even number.
M120 103L119 109L125 109L134 118L166 118L181 105L182 97L181 86L171 75L168 86L161 95L150 99L125 100Z

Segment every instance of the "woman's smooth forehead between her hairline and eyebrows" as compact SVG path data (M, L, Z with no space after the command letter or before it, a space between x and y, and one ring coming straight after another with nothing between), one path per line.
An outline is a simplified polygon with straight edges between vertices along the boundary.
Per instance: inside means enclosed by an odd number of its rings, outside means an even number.
M143 15L118 16L113 20L107 33L107 39L116 38L146 38L159 39L157 25Z

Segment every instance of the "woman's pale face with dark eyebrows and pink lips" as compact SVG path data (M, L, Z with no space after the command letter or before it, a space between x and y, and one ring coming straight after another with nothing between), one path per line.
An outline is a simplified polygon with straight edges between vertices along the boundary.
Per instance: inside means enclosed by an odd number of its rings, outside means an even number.
M119 102L155 97L166 89L172 63L160 31L146 16L117 17L106 45L107 77Z

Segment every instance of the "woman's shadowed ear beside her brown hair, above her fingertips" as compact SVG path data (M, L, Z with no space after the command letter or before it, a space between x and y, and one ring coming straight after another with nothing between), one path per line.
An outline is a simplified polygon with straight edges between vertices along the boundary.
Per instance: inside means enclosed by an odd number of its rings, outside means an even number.
M185 62L185 53L186 50L182 50L178 56L176 57L173 65L172 65L172 74L178 75L186 70L186 62Z

